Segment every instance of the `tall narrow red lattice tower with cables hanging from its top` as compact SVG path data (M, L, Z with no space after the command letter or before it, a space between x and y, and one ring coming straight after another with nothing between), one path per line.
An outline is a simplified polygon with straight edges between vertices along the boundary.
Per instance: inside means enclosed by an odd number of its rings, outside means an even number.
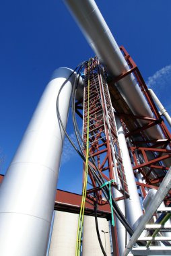
M112 186L119 189L121 193L125 190L128 195L110 94L108 92L104 70L96 58L92 59L90 63L90 70L88 68L85 69L86 86L84 89L83 106L83 141L86 144L88 128L88 79L90 79L89 152L92 158L94 158L104 181L107 182L113 179L114 183L112 183ZM92 160L90 158L89 160L92 168L96 170L96 166L94 166ZM96 183L91 170L89 170L88 174L90 189L87 190L87 197L94 200L91 193L96 193L98 204L104 204L104 201L102 201L102 189ZM118 199L123 199L123 197L117 198L116 200Z

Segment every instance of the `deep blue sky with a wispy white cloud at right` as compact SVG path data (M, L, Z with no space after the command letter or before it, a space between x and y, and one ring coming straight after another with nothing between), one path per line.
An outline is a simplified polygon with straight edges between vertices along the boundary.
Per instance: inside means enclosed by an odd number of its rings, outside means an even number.
M171 112L171 1L96 1L119 45ZM0 154L5 173L53 71L94 56L61 0L0 3ZM71 122L68 132L73 133ZM67 153L69 152L69 153ZM59 189L81 191L81 160L65 142Z

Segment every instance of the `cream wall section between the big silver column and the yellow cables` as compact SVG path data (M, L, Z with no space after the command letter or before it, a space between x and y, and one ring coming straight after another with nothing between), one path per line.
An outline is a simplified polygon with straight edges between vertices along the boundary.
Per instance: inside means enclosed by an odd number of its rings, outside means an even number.
M75 256L78 214L55 211L48 256Z

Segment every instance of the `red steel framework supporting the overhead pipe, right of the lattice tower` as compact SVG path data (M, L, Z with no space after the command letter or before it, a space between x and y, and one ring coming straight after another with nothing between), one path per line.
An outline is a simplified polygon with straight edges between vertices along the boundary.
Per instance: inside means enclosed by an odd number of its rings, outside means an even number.
M135 64L135 62L133 61L133 59L130 57L129 53L127 53L127 51L123 46L121 46L121 51L130 69L129 71L123 73L122 75L119 75L116 79L114 79L114 82L118 82L120 79L122 79L126 75L133 73L133 75L137 79L139 87L141 88L141 92L143 92L143 95L147 100L147 103L149 104L149 107L151 108L151 111L153 113L153 118L137 116L137 115L125 115L124 113L121 113L121 120L123 121L123 126L125 127L126 137L131 140L131 144L132 144L132 146L129 147L129 150L131 151L131 156L133 160L133 170L138 170L139 172L141 172L146 182L146 185L142 183L137 183L137 185L141 187L143 191L143 195L145 197L146 195L145 187L158 188L158 185L160 185L160 183L162 182L162 179L164 179L165 177L166 171L170 167L171 134L168 131L166 124L164 123L164 119L162 119L160 113L158 112L158 108L156 107L156 104L153 102L153 99L149 94L149 90L147 89L147 86L143 80L143 77L141 76L141 73L137 65ZM128 116L129 116L129 119L132 119L133 123L137 125L137 128L134 129L133 131L128 131L127 125L125 125L126 124L125 118L127 118ZM142 127L139 127L138 121L140 119L145 120L147 122L147 123L145 122L145 125L143 125ZM145 131L150 127L153 127L156 125L160 127L163 133L163 138L151 139L151 140L147 139L145 135ZM141 140L136 139L136 136L134 135L140 135ZM142 141L144 143L142 143ZM137 160L137 156L141 156L141 162ZM153 158L151 158L151 156L153 156ZM167 197L167 203L169 202L170 202L170 195L168 195Z

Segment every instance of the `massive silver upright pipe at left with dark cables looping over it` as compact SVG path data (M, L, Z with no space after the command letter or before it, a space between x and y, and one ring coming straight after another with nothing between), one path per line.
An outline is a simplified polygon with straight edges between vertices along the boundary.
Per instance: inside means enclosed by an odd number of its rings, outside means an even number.
M60 68L53 74L1 184L1 256L46 255L64 139L56 100L71 73ZM67 81L59 98L65 126L74 78Z

